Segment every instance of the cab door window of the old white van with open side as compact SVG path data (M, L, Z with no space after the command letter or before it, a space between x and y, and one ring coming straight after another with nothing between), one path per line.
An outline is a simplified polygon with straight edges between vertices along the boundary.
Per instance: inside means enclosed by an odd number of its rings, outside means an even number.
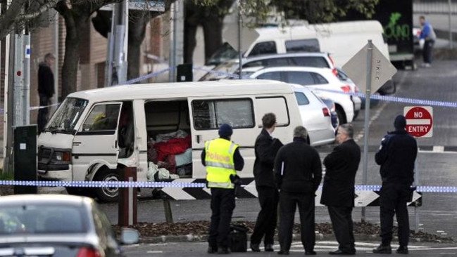
M82 124L83 131L114 131L118 126L119 104L96 105Z

